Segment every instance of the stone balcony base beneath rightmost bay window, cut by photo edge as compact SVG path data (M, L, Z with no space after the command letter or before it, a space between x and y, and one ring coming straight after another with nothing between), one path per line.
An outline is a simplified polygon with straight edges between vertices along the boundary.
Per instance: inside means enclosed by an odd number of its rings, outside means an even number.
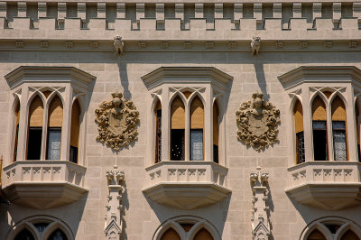
M314 208L339 210L361 204L361 163L304 162L288 169L286 193Z

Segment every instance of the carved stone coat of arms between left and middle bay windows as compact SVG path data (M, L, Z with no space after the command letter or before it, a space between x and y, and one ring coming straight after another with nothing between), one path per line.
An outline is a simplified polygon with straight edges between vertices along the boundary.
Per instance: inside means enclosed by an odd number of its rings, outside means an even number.
M138 139L139 112L132 101L122 99L122 93L116 91L112 97L113 100L102 102L96 109L97 141L119 151Z

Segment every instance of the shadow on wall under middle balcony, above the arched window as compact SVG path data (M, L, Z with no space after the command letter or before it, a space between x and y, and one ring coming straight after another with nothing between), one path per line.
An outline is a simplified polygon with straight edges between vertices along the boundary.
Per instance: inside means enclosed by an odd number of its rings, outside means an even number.
M207 220L212 226L214 226L218 231L218 235L222 236L227 219L231 195L232 193L228 194L227 198L225 198L220 203L216 203L203 208L196 208L190 210L170 208L154 202L152 199L147 198L145 195L144 198L146 198L149 206L153 209L153 213L161 223L160 226L162 226L167 220L174 217L200 217ZM154 238L155 232L160 226L154 228L152 239L155 239Z

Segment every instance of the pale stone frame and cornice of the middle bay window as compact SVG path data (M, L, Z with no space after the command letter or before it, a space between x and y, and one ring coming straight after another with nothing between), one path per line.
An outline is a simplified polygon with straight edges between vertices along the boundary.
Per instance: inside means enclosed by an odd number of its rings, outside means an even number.
M185 162L190 161L190 103L199 96L204 106L204 161L213 162L213 104L218 101L218 162L227 165L225 144L225 109L228 102L227 91L233 77L212 67L161 67L142 77L148 88L149 117L147 138L148 165L154 164L155 156L155 117L154 107L157 101L162 104L162 161L170 160L171 148L171 102L180 96L185 106ZM182 96L190 91L190 97Z

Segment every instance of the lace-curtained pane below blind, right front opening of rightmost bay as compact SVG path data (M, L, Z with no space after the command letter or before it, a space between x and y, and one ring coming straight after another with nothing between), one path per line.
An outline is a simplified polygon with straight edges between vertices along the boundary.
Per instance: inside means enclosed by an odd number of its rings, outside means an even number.
M332 122L333 152L335 161L347 161L346 126L343 121Z

